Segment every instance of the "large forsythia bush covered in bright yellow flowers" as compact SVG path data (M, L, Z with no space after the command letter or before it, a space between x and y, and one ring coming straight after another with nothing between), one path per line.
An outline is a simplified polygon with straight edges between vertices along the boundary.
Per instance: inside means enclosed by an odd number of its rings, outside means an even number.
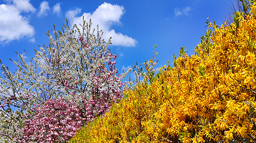
M144 63L144 82L70 142L256 141L256 3L243 8L230 25L207 21L195 54L182 47L174 67Z

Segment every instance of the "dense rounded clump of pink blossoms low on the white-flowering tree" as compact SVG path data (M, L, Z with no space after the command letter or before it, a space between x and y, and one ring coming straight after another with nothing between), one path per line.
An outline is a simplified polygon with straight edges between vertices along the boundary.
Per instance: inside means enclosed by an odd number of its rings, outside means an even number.
M74 100L50 98L35 107L37 113L27 120L19 142L65 142L80 129L83 119Z

